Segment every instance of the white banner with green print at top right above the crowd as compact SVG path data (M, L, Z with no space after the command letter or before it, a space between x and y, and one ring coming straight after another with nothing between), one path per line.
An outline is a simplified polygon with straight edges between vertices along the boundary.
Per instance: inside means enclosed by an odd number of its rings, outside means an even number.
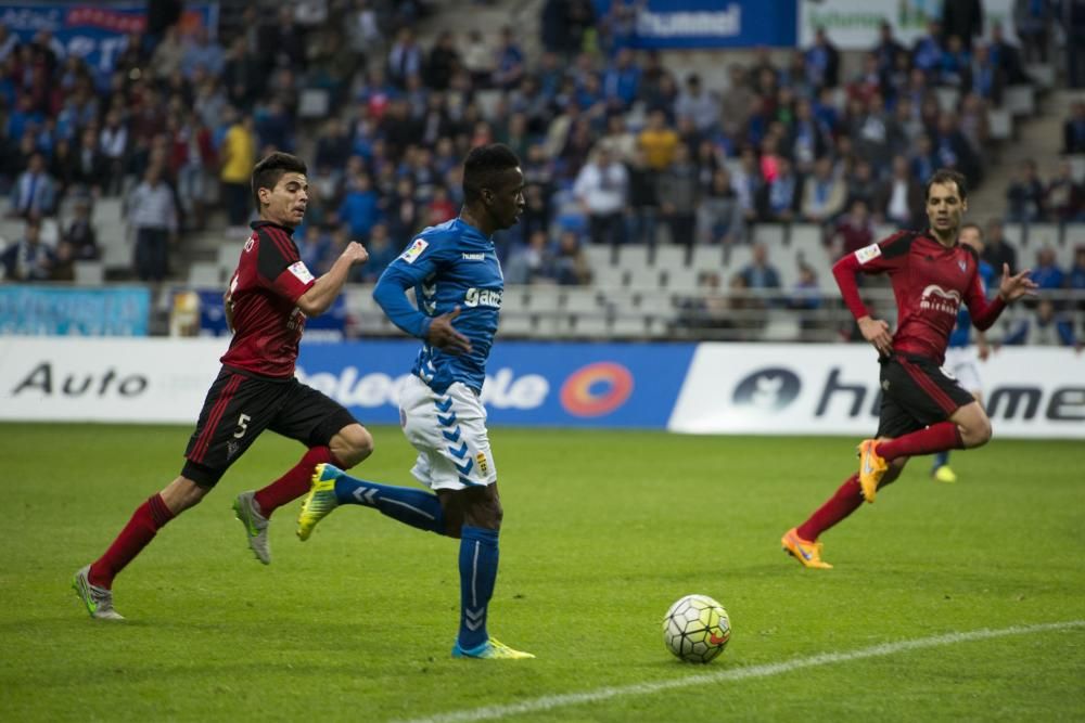
M995 23L1003 36L1016 43L1013 1L983 0L983 31L991 36ZM879 28L885 21L893 26L897 41L908 49L927 34L927 18L941 20L942 0L800 0L799 44L808 48L814 33L824 27L841 50L870 50L878 43Z

